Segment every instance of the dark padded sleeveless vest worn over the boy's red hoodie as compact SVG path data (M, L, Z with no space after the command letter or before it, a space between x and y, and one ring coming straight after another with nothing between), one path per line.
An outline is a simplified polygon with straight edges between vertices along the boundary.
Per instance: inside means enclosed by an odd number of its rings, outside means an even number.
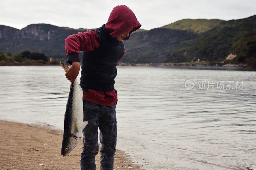
M109 92L115 88L116 65L118 58L124 55L124 42L112 38L105 25L94 31L98 34L100 46L83 52L80 85L85 91L91 88Z

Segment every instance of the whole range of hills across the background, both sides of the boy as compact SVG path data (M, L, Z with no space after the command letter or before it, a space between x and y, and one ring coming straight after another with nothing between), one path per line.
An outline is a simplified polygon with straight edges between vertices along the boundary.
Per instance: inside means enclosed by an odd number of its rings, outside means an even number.
M21 30L0 25L0 51L17 54L25 50L48 57L66 57L64 40L85 32L49 24L32 24ZM256 58L256 15L224 21L182 19L151 30L139 29L124 41L126 54L121 62L168 63L223 61L232 53L232 62L248 63ZM256 61L256 59L255 59Z

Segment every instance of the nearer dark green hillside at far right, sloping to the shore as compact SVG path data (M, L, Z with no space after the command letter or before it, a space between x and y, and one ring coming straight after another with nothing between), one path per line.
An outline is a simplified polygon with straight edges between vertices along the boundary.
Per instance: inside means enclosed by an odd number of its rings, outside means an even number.
M194 45L188 47L186 59L187 61L197 58L206 61L220 61L230 53L238 55L239 58L249 50L247 43L255 40L255 30L256 15L226 21L204 33ZM247 38L245 39L245 37ZM255 49L256 47L252 45L251 48ZM246 57L251 57L250 55Z

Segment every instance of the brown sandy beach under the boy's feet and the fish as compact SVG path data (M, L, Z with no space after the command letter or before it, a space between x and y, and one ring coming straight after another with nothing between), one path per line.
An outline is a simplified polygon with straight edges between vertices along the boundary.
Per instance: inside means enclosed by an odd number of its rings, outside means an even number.
M82 140L70 154L62 157L62 130L7 121L0 121L0 128L0 169L80 169ZM100 169L100 149L95 158L96 168ZM117 150L114 169L141 168Z

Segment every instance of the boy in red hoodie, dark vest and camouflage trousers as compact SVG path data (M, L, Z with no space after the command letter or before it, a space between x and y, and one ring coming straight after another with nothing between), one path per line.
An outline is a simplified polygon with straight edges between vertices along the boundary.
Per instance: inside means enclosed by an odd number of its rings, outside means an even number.
M83 89L84 121L81 169L96 169L98 153L98 128L100 129L100 169L114 168L116 152L116 102L114 88L117 62L124 56L123 40L139 29L141 24L125 5L116 6L108 22L96 30L70 35L65 40L67 62L71 68L65 74L74 82L79 74L82 55L80 85Z

